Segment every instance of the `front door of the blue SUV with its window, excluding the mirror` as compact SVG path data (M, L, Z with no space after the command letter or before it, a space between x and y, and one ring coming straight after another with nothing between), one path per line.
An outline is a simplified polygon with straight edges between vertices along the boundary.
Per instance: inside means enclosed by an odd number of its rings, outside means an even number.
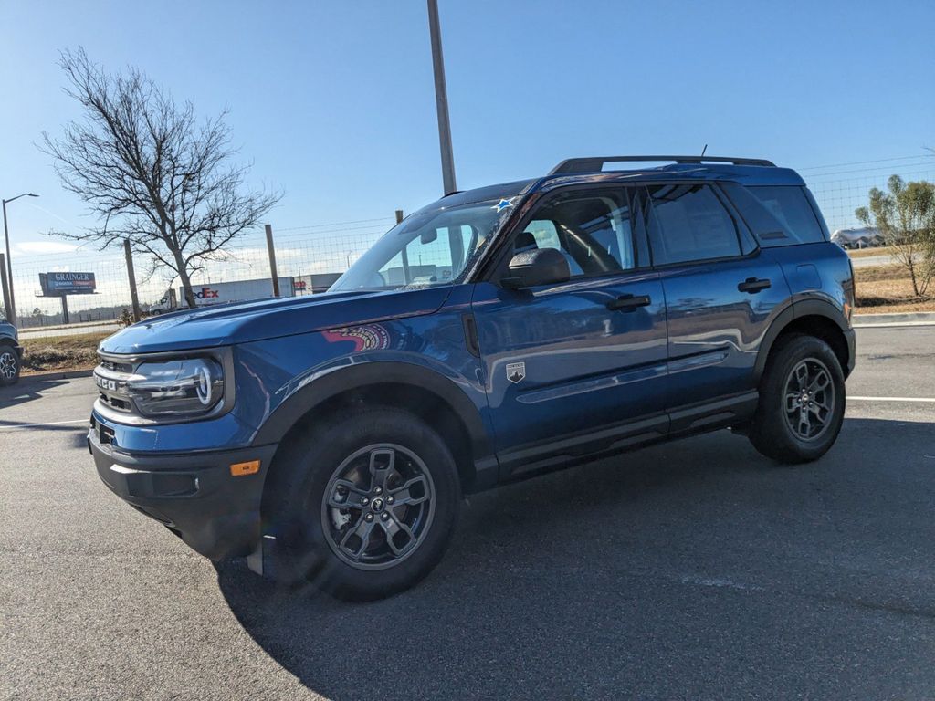
M505 476L665 434L666 305L626 187L554 193L512 253L554 248L567 282L475 288L472 308Z

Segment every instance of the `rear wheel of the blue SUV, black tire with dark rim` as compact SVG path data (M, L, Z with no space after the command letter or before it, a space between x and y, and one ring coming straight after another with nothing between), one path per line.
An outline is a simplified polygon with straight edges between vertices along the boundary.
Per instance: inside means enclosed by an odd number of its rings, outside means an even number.
M837 440L844 406L844 374L834 351L814 336L784 336L760 380L750 442L781 463L812 462Z

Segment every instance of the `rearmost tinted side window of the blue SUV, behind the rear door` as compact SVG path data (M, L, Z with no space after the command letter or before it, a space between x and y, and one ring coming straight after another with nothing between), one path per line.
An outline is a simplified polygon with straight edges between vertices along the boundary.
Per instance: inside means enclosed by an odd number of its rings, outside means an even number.
M805 188L795 185L743 187L726 182L724 189L753 229L761 246L790 246L825 240L821 222L815 216Z

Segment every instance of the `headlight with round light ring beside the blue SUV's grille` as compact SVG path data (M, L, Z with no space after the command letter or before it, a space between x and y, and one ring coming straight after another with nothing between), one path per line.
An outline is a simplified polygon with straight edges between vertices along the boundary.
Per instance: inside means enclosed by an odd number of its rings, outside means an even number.
M223 370L209 358L143 363L126 380L126 393L144 416L196 416L221 401Z

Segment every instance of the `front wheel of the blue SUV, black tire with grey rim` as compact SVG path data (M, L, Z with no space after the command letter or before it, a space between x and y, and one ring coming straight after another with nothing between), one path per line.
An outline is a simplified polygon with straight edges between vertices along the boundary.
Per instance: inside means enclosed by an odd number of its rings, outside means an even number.
M408 411L342 412L286 446L273 474L266 516L278 578L292 584L351 601L384 598L423 579L453 534L454 459Z

